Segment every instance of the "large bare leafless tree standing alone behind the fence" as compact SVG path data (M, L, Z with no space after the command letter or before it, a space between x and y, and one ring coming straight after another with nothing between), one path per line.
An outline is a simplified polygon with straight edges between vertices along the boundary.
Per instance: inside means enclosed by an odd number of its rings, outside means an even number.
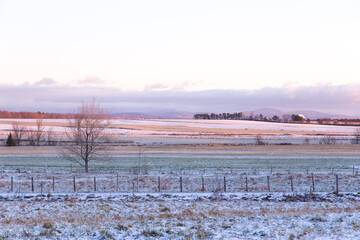
M95 99L89 103L83 102L74 118L69 120L66 136L72 143L64 147L62 156L89 172L89 162L96 159L109 141L109 134L105 132L109 125L109 115Z

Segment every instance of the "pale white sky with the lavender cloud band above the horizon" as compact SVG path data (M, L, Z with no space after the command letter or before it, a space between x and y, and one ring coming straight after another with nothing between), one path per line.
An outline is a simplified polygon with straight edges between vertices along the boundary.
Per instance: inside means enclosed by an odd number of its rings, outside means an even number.
M360 2L0 0L0 110L360 115Z

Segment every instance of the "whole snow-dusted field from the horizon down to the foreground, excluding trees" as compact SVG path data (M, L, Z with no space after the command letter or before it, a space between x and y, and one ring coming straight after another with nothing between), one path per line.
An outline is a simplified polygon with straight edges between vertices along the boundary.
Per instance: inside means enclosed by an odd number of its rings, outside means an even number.
M1 145L13 121L0 120ZM86 174L61 157L67 121L44 124L52 144L0 147L0 237L360 236L356 127L113 120Z

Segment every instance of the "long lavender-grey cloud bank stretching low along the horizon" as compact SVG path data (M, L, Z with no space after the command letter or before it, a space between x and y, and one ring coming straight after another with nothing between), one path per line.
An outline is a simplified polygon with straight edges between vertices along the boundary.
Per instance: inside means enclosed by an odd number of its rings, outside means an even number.
M70 112L81 101L96 97L102 106L119 113L155 110L238 112L269 107L284 111L313 110L360 115L360 83L256 90L162 90L165 87L154 84L143 91L124 91L94 85L86 88L43 83L0 85L0 109Z

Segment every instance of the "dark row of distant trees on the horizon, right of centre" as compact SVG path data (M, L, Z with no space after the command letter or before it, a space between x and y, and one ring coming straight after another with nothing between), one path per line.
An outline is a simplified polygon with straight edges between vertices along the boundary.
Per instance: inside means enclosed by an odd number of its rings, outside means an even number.
M304 122L306 119L301 114L283 114L282 119L273 115L271 118L265 117L263 114L250 113L246 115L244 112L236 113L198 113L194 115L194 119L224 119L224 120L258 120L258 121L274 121L274 122Z

